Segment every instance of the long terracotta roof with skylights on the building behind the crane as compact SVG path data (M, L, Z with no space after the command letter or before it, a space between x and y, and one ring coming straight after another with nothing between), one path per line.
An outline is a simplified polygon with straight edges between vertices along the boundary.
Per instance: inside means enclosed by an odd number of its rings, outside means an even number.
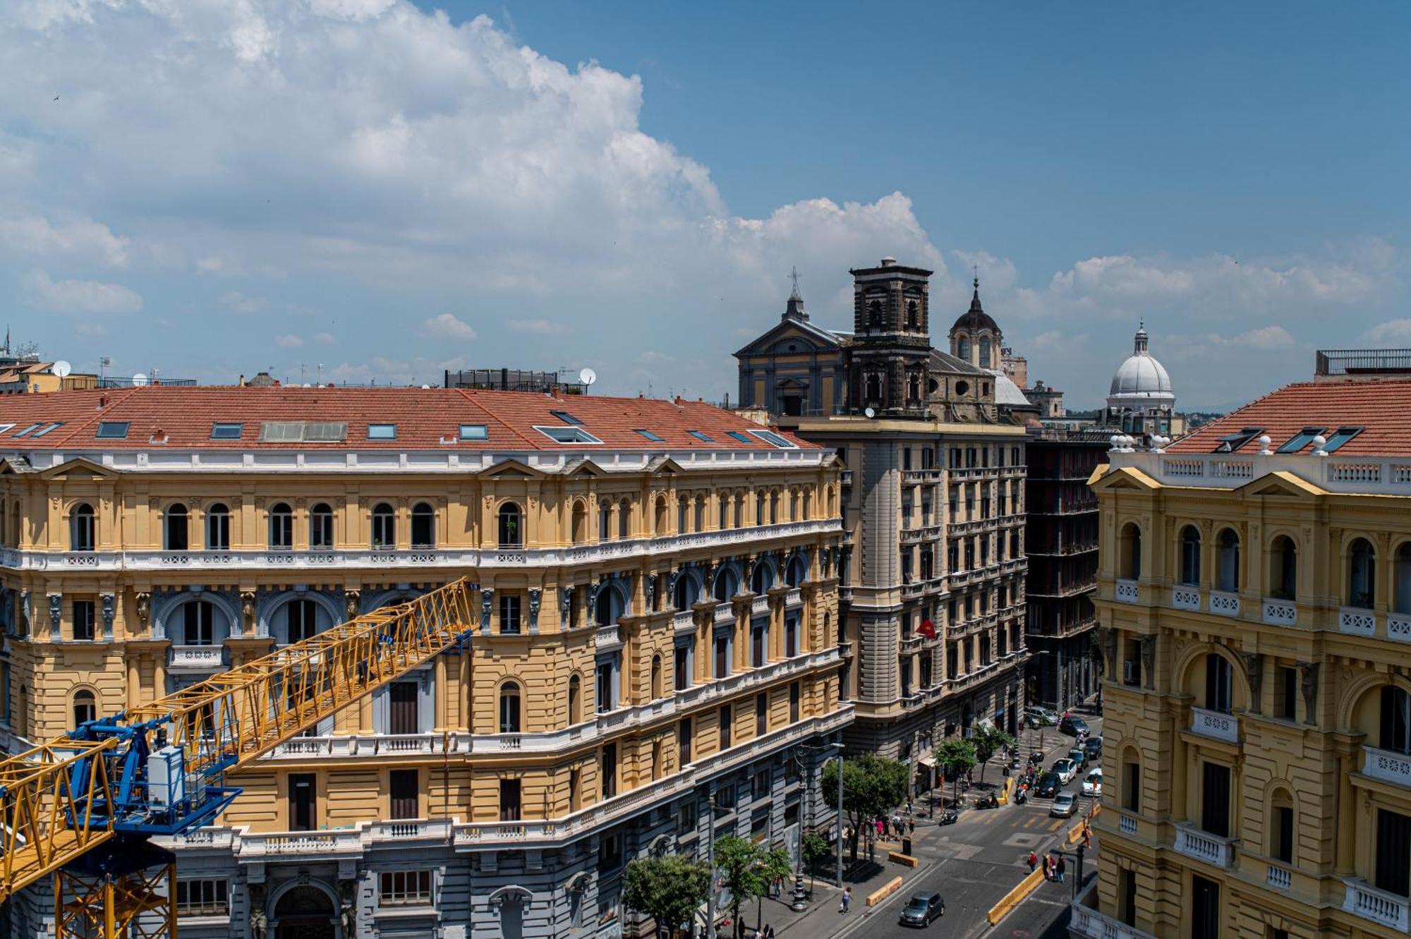
M103 403L106 402L106 403ZM535 426L567 427L552 412L567 412L601 444L562 444ZM343 422L341 441L262 441L264 422ZM126 422L126 438L99 438L99 422ZM216 422L244 424L238 440L212 440ZM61 423L42 437L16 437L34 423ZM370 423L396 424L395 440L368 440ZM48 395L0 396L0 451L13 450L148 450L165 436L165 447L202 450L775 450L751 430L759 424L732 412L689 400L646 398L550 398L525 392L453 388L127 388L66 391ZM484 424L485 440L460 440L461 424ZM649 430L660 441L636 433ZM691 436L697 430L711 438ZM728 436L735 431L745 437ZM794 446L817 450L787 433ZM454 443L442 443L443 438Z

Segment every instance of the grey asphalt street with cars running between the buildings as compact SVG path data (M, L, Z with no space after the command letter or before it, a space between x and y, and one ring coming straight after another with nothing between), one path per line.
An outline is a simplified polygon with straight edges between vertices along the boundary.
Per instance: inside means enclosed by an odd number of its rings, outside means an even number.
M1101 718L1086 711L1075 713L1088 720L1092 736L1102 735ZM1023 735L1020 754L1027 757L1030 746L1036 746L1038 740L1038 732ZM1048 768L1054 760L1067 754L1072 737L1058 733L1057 728L1044 728L1043 744L1046 749L1043 766ZM1002 757L991 761L985 771L986 784L1003 781L1002 766ZM978 767L974 775L979 778ZM1062 791L1079 792L1082 775L1082 773L1075 775ZM972 804L976 792L978 790L972 788L962 797L964 801ZM921 861L917 871L888 864L889 877L897 873L907 876L903 888L873 909L862 905L864 897L859 894L854 911L845 918L834 915L830 909L832 919L828 922L832 931L823 935L832 935L837 939L844 936L890 939L926 932L944 936L978 936L986 932L989 926L985 916L989 909L1029 873L1026 864L1029 852L1033 850L1043 857L1046 850L1062 847L1064 836L1091 809L1092 799L1079 797L1078 814L1072 818L1051 818L1048 815L1051 804L1051 798L1033 797L1026 805L1000 805L996 809L967 808L961 812L959 821L948 826L937 826L927 821L926 806L919 805L913 843L913 853ZM885 850L886 847L879 850L879 857L885 856ZM1085 874L1094 870L1094 853L1088 853ZM1070 859L1067 883L1041 884L993 932L1002 936L1044 935L1065 915L1075 874L1077 870ZM897 914L907 898L931 891L940 892L945 900L945 916L924 931L902 926ZM807 921L813 925L816 916L809 916Z

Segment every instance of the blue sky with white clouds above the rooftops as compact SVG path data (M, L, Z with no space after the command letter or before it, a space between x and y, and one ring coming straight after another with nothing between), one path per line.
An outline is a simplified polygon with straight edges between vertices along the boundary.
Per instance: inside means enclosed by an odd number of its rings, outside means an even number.
M847 268L893 254L957 314L978 264L1074 406L1139 317L1188 407L1411 345L1404 4L437 6L8 4L16 334L720 399L792 265L845 326Z

